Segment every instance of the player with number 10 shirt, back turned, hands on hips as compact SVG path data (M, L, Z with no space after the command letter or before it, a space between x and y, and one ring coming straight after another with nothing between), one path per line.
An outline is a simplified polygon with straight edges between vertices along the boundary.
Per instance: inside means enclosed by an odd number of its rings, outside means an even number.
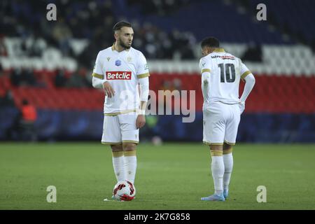
M220 48L217 38L205 38L201 43L203 105L203 141L210 146L214 195L204 201L225 201L233 167L232 146L245 101L255 85L255 78L241 59ZM239 98L239 80L244 80L244 92Z

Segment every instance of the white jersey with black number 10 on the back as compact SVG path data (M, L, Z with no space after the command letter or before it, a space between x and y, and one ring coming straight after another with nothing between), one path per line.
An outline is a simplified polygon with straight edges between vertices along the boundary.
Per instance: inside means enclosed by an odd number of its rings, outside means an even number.
M241 59L218 48L200 59L200 70L204 105L239 103L239 80L251 73Z

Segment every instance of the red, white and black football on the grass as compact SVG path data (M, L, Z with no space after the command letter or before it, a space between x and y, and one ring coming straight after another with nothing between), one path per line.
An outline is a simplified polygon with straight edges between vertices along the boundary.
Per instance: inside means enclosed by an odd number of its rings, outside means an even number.
M113 188L113 196L118 201L131 201L136 195L136 188L130 181L119 181Z

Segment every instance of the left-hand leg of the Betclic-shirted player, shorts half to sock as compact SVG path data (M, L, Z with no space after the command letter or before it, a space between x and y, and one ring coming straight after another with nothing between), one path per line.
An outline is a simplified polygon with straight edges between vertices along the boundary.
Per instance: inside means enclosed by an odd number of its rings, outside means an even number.
M125 180L125 161L118 116L104 116L102 144L110 145L115 176L118 181Z

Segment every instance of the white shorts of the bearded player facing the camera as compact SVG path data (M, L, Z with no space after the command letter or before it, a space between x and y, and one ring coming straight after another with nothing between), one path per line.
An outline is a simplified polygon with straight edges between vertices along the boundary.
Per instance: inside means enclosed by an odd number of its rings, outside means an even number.
M138 144L137 116L135 112L104 116L102 144L118 145L126 142Z

